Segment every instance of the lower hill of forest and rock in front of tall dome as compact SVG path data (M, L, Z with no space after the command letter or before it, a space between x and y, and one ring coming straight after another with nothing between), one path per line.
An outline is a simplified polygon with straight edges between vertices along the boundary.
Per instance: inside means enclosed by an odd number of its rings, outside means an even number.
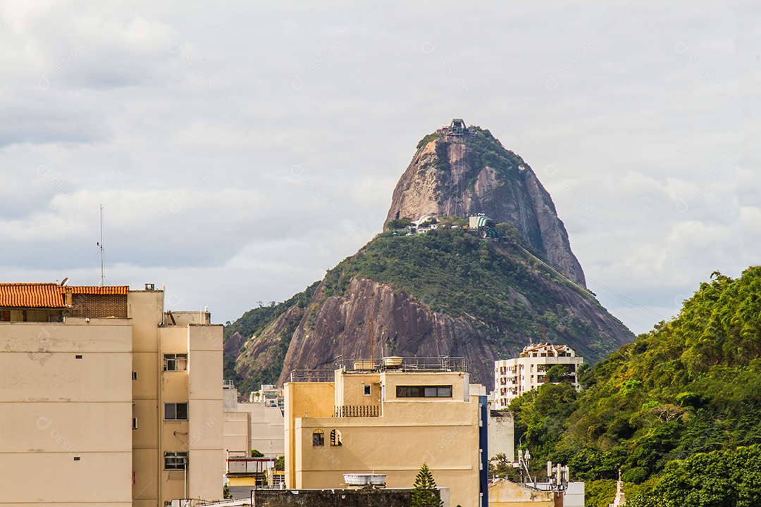
M369 357L371 316L376 357L463 356L489 389L495 359L543 338L591 362L633 339L508 224L498 224L497 242L463 230L457 217L439 220L425 234L381 233L319 284L228 325L226 378L253 391L285 382L292 369L330 368L341 354Z

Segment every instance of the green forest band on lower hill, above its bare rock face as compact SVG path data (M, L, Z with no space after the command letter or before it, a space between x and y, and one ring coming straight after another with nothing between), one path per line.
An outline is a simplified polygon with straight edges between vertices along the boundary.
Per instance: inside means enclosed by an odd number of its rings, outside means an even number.
M514 241L485 241L461 227L451 228L447 218L439 222L438 230L425 234L376 236L328 271L323 299L345 293L352 278L367 278L404 290L435 312L471 319L504 356L519 352L527 340L541 341L543 333L581 350L591 361L613 349L613 337L595 332L557 304L537 277L564 285L599 307L591 293L550 271Z

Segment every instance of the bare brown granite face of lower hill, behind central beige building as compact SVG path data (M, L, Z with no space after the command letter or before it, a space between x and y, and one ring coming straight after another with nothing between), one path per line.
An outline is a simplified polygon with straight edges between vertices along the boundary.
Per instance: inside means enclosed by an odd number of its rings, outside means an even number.
M318 289L310 303L312 317L302 318L291 338L279 384L294 369L317 369L347 360L374 356L465 357L471 369L488 378L496 359L488 335L474 322L433 312L414 296L373 280L352 279L342 296L320 301ZM373 349L370 350L370 315Z

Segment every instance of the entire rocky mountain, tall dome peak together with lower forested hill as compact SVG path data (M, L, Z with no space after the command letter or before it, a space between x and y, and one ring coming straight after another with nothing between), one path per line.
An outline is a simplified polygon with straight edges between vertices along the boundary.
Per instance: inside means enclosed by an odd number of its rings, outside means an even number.
M384 233L304 293L225 328L226 375L240 391L282 385L294 369L329 368L336 356L384 355L463 356L473 381L491 389L493 361L527 344L568 344L594 363L633 340L584 287L530 167L488 131L466 132L423 138ZM476 211L500 222L501 238L463 229ZM438 229L406 236L402 219L421 213L437 213Z

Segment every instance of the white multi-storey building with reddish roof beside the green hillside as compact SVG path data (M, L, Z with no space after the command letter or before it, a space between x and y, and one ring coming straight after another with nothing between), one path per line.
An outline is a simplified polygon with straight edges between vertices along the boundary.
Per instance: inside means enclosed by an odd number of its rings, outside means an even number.
M494 410L506 410L526 391L547 382L546 372L556 364L568 365L568 379L578 390L576 369L584 358L568 345L539 344L524 347L520 357L494 362Z

